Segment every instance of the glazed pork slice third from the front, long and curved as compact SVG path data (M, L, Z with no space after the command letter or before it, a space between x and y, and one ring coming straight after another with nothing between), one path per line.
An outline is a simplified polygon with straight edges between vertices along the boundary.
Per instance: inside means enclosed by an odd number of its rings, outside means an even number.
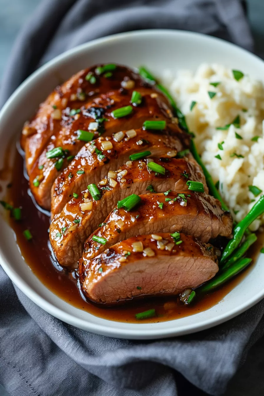
M118 172L109 173L114 179L110 180L106 176L99 182L100 200L92 200L87 189L80 192L77 183L74 190L70 189L69 202L61 213L55 215L49 228L51 246L60 265L72 268L76 266L82 256L85 240L114 209L118 200L127 195L139 195L147 191L187 190L188 179L204 183L205 190L208 190L198 164L176 158L168 159L167 162L163 158L154 161L164 166L165 175L149 171L146 159L129 161L120 166ZM79 223L74 223L79 220Z

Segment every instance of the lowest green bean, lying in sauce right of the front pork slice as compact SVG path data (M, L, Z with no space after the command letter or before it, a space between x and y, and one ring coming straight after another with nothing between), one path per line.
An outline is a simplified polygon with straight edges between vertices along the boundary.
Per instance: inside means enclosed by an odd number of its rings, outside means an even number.
M241 272L249 263L251 263L252 259L241 258L236 261L231 267L222 272L221 274L215 276L213 279L209 280L209 282L205 283L203 286L196 289L196 293L208 293L211 290L216 289L221 286L233 276L237 275Z

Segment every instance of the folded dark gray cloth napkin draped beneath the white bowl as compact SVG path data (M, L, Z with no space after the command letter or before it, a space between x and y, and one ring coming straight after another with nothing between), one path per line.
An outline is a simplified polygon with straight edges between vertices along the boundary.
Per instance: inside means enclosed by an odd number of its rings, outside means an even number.
M15 43L1 103L38 65L66 49L146 28L195 30L253 48L238 0L46 0ZM0 383L10 396L175 396L175 370L203 391L221 395L264 327L261 301L226 324L185 337L103 337L44 312L2 268L0 298Z

